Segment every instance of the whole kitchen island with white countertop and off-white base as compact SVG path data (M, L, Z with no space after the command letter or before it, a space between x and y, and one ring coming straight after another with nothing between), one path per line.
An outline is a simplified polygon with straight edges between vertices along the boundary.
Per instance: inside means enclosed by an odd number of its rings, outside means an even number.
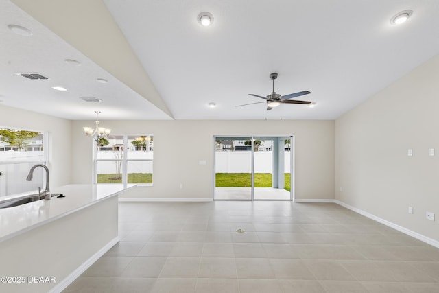
M0 209L0 292L60 292L119 241L123 185L65 185L64 198Z

